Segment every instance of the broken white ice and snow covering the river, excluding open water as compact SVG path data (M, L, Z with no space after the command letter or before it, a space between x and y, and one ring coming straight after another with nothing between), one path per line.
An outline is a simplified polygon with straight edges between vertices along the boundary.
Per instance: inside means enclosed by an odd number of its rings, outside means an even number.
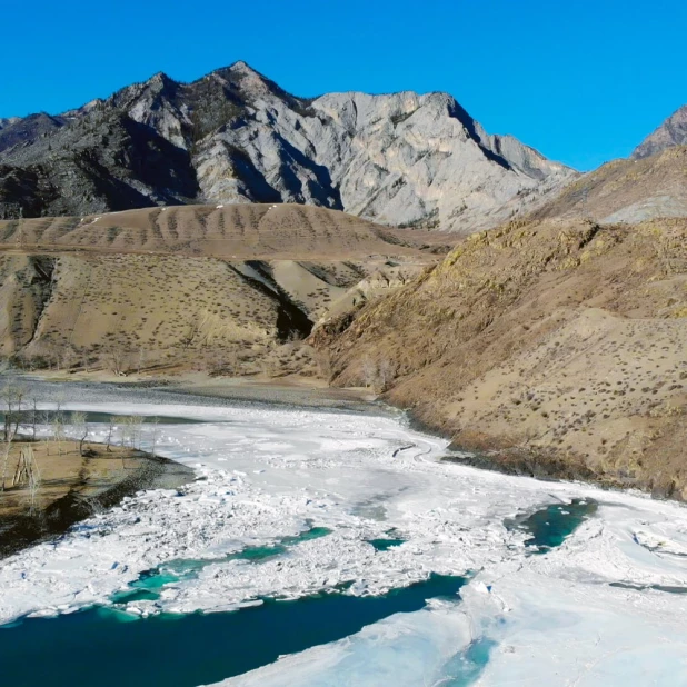
M471 571L459 604L392 616L227 684L448 685L441 666L480 637L496 645L478 685L687 684L687 595L609 586L687 588L687 510L678 504L441 464L446 441L389 417L63 407L207 420L159 427L157 451L193 467L198 479L179 492L141 492L57 544L4 560L0 621L107 603L158 564L221 559L295 535L311 520L332 532L260 564L218 560L197 579L168 585L159 601L130 603L129 610L227 610L349 580L350 594L381 594L431 571ZM104 436L106 427L98 432ZM527 535L504 527L519 511L571 498L600 506L547 555L527 555ZM367 544L391 528L407 542L387 551Z

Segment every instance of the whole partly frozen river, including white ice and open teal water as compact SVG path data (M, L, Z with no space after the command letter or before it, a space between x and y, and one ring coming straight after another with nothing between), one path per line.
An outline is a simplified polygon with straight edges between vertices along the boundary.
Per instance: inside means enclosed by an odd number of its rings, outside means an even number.
M142 448L196 479L1 562L7 684L687 684L681 505L441 461L376 407L32 392L195 420Z

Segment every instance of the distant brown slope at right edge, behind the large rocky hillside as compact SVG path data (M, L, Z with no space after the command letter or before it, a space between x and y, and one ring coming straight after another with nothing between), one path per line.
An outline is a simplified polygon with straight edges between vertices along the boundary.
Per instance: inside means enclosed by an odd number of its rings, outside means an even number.
M604 223L687 217L687 147L608 162L567 186L532 217L586 217Z

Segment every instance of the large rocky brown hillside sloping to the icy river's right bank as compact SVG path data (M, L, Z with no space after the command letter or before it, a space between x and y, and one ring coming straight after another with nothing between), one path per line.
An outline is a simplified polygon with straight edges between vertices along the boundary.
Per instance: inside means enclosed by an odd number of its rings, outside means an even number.
M470 239L316 330L335 384L389 360L390 401L504 467L687 497L687 220Z

